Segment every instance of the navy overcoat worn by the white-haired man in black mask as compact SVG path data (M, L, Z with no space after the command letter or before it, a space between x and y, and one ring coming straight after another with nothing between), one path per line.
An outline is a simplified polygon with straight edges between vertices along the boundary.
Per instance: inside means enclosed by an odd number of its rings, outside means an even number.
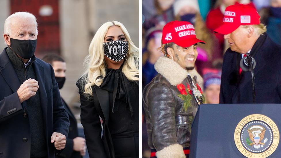
M29 117L18 98L20 81L5 48L0 54L0 157L30 157ZM55 157L53 132L67 136L69 119L50 64L36 58L32 63L39 84L48 157ZM62 150L57 151L60 153Z

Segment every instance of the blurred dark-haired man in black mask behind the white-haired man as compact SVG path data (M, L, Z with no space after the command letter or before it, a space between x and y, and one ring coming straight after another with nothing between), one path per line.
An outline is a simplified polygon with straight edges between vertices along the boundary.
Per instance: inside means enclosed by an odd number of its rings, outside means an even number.
M62 59L62 57L56 54L45 55L42 58L42 60L53 66L56 81L58 83L58 88L61 89L65 81L65 71L66 71L65 61ZM67 106L66 102L63 99L62 99L62 104L69 115L70 125L69 125L69 133L68 133L65 149L62 151L60 155L58 155L58 157L84 156L86 152L85 139L82 137L78 137L77 121L73 113L71 112L69 106Z

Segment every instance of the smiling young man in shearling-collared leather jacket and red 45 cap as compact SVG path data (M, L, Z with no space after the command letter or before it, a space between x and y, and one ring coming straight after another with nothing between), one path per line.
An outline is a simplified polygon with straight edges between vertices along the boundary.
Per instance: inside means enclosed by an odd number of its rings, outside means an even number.
M188 157L191 123L204 103L203 79L194 69L198 56L191 23L172 21L162 33L162 52L155 63L158 74L143 90L151 157Z

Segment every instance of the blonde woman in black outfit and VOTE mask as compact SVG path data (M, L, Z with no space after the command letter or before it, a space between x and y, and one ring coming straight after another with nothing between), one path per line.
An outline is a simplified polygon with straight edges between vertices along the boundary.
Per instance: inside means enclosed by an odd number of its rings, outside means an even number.
M90 43L76 83L90 157L138 157L138 52L117 21L100 26Z

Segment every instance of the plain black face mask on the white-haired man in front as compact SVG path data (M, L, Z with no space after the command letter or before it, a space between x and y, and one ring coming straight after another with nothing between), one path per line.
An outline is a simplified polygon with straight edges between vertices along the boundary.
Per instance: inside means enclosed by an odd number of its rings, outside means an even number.
M10 37L10 42L11 42L10 47L14 51L14 53L18 54L20 57L24 59L30 59L35 53L37 39L19 40L19 39L12 39Z

